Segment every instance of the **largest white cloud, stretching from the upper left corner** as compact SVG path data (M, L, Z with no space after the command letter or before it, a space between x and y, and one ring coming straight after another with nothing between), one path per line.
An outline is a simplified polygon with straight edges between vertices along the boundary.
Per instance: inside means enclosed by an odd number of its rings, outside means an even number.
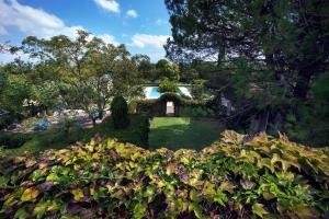
M73 37L77 30L82 26L66 26L65 23L54 14L42 9L34 9L19 3L16 0L9 2L0 0L0 34L8 34L7 27L14 26L21 32L38 37L50 37L65 34Z

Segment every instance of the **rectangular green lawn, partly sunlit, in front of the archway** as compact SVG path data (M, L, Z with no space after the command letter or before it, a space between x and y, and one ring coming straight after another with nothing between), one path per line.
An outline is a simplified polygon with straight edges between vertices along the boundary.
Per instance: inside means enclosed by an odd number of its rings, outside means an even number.
M155 117L150 120L149 148L201 150L218 140L223 129L211 118Z

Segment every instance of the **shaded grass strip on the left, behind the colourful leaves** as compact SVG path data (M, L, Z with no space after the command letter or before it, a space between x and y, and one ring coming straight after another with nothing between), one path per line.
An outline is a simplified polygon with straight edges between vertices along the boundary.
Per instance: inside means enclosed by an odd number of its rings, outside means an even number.
M131 124L125 129L116 130L112 126L111 117L105 118L102 124L94 128L83 129L72 127L66 132L64 129L54 128L34 134L8 134L0 132L0 146L3 145L1 139L25 139L21 146L12 149L1 149L0 155L18 155L24 152L38 153L47 149L66 148L77 141L88 142L95 135L101 135L105 138L117 138L121 142L132 142L138 146L147 146L147 118L144 116L131 115ZM13 141L15 143L15 141Z

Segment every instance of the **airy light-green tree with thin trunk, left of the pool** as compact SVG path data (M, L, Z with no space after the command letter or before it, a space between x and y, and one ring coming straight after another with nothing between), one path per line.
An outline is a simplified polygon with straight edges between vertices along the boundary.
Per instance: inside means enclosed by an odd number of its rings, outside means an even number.
M53 66L57 89L66 107L81 108L95 124L95 112L102 115L110 100L141 94L138 71L124 45L114 46L78 31L70 39L58 35L50 39L34 36L23 41L22 49L41 62Z

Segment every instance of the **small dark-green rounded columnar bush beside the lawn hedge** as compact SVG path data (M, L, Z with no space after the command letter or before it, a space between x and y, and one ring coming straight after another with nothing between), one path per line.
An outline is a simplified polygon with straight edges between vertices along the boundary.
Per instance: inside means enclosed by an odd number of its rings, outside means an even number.
M129 125L128 105L123 96L115 96L111 104L113 126L116 129L126 128Z

